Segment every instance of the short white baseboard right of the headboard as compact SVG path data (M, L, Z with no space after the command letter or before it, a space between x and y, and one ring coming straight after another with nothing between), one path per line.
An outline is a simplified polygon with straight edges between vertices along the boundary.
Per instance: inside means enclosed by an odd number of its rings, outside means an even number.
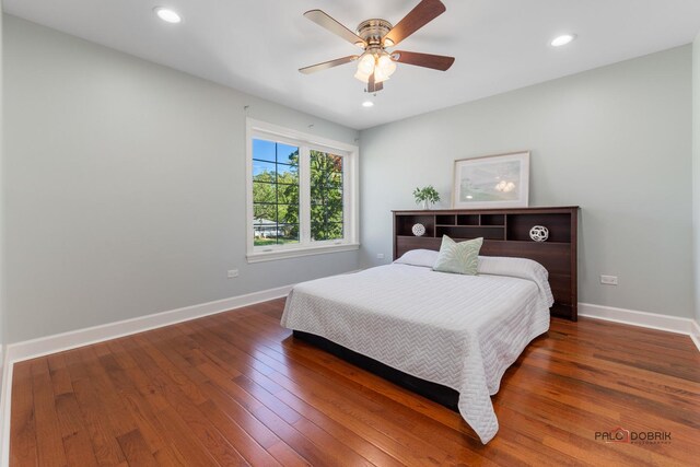
M690 339L692 339L698 350L700 350L700 327L698 326L698 322L690 318L615 308L612 306L593 305L591 303L579 303L579 316L684 334L690 336Z

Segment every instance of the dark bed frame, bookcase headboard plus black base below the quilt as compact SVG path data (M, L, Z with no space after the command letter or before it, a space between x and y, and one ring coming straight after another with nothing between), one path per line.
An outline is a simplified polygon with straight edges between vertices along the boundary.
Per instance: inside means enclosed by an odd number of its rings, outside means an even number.
M529 258L545 266L555 296L551 315L576 320L578 207L393 212L394 259L417 248L439 250L443 235L456 241L483 237L481 255ZM412 233L412 226L417 223L425 227L422 236ZM547 242L530 240L529 230L534 225L544 225L549 230ZM293 335L296 339L458 411L459 393L450 387L400 372L320 336L299 330L294 330Z

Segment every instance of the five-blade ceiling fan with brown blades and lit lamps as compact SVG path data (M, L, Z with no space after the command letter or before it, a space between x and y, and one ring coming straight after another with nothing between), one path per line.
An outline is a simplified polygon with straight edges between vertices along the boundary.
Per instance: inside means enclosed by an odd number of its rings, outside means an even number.
M422 0L396 26L392 26L392 23L386 20L372 19L360 23L357 33L348 30L320 10L307 11L304 13L305 17L362 48L364 51L360 55L349 55L324 61L323 63L312 65L311 67L300 68L299 71L310 74L357 60L358 71L354 77L366 83L365 91L369 93L376 93L384 89L384 81L388 80L396 71L396 62L446 71L455 61L454 57L405 50L387 50L387 48L397 46L401 40L440 16L445 10L445 5L440 0Z

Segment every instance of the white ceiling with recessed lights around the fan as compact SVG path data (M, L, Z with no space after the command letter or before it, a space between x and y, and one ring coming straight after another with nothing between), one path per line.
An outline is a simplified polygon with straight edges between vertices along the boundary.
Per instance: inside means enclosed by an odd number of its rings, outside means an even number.
M400 49L456 57L446 72L399 65L372 108L345 65L299 68L357 48L304 19L322 9L351 30L396 24L419 0L3 0L10 14L363 129L692 42L700 0L443 0L447 11ZM178 11L163 23L153 8ZM555 49L558 34L579 38Z

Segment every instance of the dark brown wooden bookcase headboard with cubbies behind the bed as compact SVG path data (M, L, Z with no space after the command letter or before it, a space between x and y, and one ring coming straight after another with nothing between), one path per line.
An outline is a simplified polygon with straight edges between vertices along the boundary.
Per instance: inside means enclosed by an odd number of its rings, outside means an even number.
M555 295L552 316L578 318L576 230L579 207L394 212L394 259L410 249L440 249L442 236L460 241L483 237L480 255L529 258L549 271ZM422 236L411 229L421 223ZM549 230L546 242L534 242L534 225Z

